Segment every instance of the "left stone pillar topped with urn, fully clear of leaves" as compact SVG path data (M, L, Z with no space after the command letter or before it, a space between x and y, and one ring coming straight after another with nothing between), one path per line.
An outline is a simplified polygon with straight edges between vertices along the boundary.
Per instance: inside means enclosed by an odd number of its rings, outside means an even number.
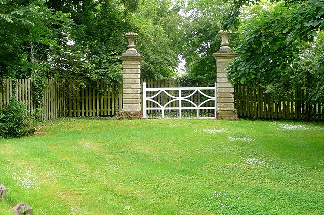
M126 33L128 50L119 58L123 61L123 109L121 118L141 118L141 61L135 49L137 33Z

